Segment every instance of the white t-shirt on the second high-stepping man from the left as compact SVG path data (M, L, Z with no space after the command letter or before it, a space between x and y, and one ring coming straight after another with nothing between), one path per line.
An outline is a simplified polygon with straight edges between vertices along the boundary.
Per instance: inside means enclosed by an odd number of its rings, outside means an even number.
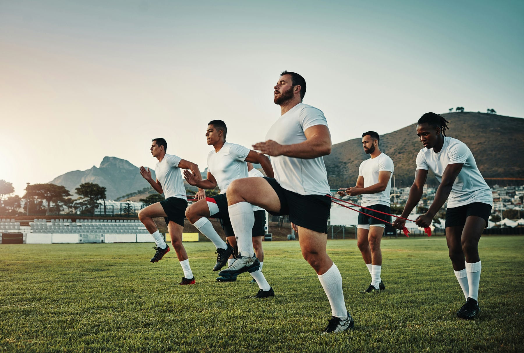
M220 193L225 194L231 181L247 178L247 163L244 162L250 149L235 143L224 143L219 152L208 154L208 172L219 186Z

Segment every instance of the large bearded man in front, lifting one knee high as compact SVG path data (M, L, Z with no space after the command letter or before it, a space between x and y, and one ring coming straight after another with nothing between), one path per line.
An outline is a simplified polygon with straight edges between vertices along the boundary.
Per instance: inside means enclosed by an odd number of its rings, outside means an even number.
M323 334L330 334L353 327L354 321L344 303L342 276L326 253L331 199L322 156L331 153L331 135L322 111L302 103L305 89L305 80L298 73L282 72L274 87L281 116L270 127L266 142L253 145L271 156L275 178L237 179L228 187L228 210L239 256L220 275L259 268L250 239L252 204L274 216L289 215L299 233L302 255L328 296L332 318Z

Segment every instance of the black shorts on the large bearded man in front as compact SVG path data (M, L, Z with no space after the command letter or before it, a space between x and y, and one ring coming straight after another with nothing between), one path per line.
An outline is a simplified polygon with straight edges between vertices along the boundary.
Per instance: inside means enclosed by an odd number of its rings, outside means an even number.
M264 177L277 193L280 211L269 212L273 216L289 215L289 221L297 226L319 233L328 232L331 199L327 195L300 195L286 190L274 178Z

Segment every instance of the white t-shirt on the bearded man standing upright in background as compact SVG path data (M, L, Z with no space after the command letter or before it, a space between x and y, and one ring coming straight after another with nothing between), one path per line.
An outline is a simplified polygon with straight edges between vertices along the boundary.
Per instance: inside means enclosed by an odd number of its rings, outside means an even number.
M391 191L391 177L393 176L393 161L385 153L380 153L375 158L366 159L358 168L358 176L364 177L364 187L378 183L378 173L381 171L391 172L386 190L376 194L363 194L361 206L385 205L390 206L389 193Z

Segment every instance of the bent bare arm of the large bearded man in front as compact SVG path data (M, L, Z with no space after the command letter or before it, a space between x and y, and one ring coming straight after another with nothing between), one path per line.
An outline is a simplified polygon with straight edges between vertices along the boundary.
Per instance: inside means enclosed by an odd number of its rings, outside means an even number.
M263 154L270 156L287 156L293 158L312 159L331 153L331 134L328 126L314 125L304 131L307 140L292 145L281 145L273 140L259 142L253 145Z

